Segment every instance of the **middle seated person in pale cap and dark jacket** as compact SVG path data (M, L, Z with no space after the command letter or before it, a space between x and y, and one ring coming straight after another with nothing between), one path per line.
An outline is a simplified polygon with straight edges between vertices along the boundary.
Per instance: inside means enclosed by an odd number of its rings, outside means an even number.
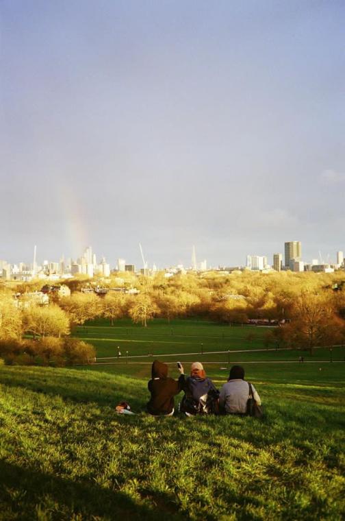
M216 411L218 391L212 380L207 378L200 362L192 363L191 374L183 383L181 411L186 415L209 414Z

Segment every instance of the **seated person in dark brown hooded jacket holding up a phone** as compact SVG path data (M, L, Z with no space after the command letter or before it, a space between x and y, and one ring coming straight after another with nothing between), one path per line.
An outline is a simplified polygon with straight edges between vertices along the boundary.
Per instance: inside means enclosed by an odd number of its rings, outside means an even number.
M151 380L148 388L151 398L146 404L146 409L153 416L172 416L174 413L174 396L178 394L183 386L183 367L179 368L181 376L174 380L168 376L168 365L155 360L151 368Z

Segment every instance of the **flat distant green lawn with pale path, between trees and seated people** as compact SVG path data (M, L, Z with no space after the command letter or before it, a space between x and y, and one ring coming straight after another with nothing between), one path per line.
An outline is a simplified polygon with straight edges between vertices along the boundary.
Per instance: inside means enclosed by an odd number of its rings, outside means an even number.
M97 350L97 358L116 358L118 350L122 360L133 361L132 357L142 357L148 361L159 357L169 361L170 354L179 354L181 361L190 359L188 353L207 359L207 361L296 361L303 354L305 360L330 360L328 349L316 350L314 356L308 352L295 350L276 350L274 343L264 344L264 335L270 328L256 326L224 326L202 320L173 320L168 323L163 319L155 319L147 328L132 324L123 319L110 326L109 322L99 319L85 326L79 326L73 334L92 345ZM248 353L236 353L236 351ZM252 350L264 350L252 353ZM223 352L223 354L207 354ZM231 354L227 352L230 351ZM226 352L226 353L224 353ZM127 354L128 353L128 354ZM333 348L333 360L343 360L345 348ZM101 361L101 360L100 360ZM114 362L114 360L113 360Z

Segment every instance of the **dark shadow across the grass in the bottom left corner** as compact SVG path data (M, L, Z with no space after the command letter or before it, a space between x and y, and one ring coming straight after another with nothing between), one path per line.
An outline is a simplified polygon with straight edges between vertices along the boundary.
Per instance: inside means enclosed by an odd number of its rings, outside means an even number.
M69 519L73 513L81 514L83 519L106 516L107 519L161 520L167 515L171 520L182 519L170 497L159 496L157 500L153 498L151 505L140 505L114 489L89 482L78 483L3 460L0 461L0 476L0 505L3 503L3 511L10 509L16 519L32 519L37 508L49 511L53 519Z

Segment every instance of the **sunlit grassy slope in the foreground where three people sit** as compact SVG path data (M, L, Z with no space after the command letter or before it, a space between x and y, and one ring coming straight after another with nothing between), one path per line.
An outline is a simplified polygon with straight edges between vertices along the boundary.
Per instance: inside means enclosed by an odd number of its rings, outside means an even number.
M144 410L149 365L1 366L0 517L340 521L344 365L245 367L264 420L116 415Z

